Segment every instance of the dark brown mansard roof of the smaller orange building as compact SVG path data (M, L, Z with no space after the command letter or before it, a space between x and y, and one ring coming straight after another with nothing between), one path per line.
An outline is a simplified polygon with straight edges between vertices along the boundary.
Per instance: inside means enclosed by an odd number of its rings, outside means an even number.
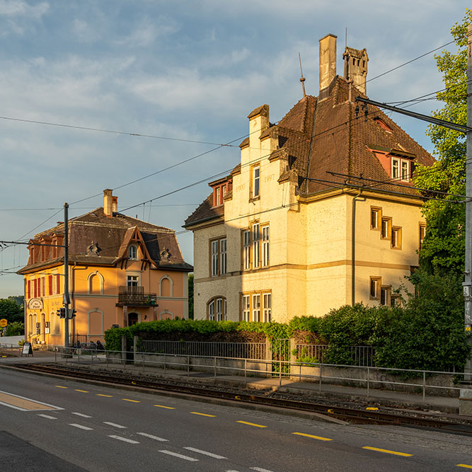
M35 235L35 239L51 234L64 234L64 224L42 231ZM149 262L155 267L189 272L192 270L192 266L183 260L175 231L172 229L146 223L146 221L120 213L107 217L102 207L69 221L69 260L71 263L115 265L127 256L127 246L132 241L144 243L144 249L151 258ZM98 248L97 251L89 250L89 246L92 245ZM26 265L18 273L29 272L46 265L57 265L63 261L63 258L64 251L61 250L59 258Z

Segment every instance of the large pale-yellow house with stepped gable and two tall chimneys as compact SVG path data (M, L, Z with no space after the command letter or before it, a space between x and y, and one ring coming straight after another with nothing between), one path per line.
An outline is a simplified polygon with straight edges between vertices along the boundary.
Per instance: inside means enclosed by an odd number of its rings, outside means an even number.
M432 156L378 108L361 108L367 52L320 40L320 93L272 125L249 115L241 162L210 183L194 232L195 318L289 321L359 301L395 304L425 232L411 177Z

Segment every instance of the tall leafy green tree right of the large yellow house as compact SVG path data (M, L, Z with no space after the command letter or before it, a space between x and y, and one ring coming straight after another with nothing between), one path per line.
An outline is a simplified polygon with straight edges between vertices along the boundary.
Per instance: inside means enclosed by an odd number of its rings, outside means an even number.
M466 9L464 20L451 28L457 52L443 51L435 56L437 68L443 74L444 91L437 99L444 105L432 115L461 125L467 123L467 26L472 22L472 10ZM414 182L427 197L439 197L434 192L465 195L466 192L466 139L463 133L439 125L427 130L434 144L437 162L432 168L419 166ZM420 252L420 265L429 273L444 275L464 271L465 205L464 200L445 196L442 200L429 200L423 207L427 221L425 241Z

